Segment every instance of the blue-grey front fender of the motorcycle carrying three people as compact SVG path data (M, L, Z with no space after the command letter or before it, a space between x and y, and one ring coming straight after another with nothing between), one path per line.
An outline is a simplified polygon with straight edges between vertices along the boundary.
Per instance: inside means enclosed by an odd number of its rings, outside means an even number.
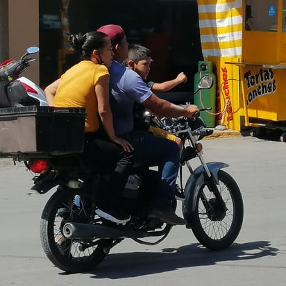
M217 174L219 169L226 168L229 165L224 162L208 162L206 163L208 169L217 184L219 183L219 179ZM183 201L183 215L185 220L187 221L187 228L192 228L192 225L195 223L196 215L196 201L198 199L199 190L201 189L201 185L205 184L206 174L202 166L194 169L193 174L188 178L187 183L185 185L185 200Z

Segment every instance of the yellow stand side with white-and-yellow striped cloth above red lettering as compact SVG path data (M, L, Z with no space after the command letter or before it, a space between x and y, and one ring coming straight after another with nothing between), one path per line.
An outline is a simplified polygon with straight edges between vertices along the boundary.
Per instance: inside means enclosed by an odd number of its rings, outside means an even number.
M216 128L240 131L239 68L242 58L242 0L198 0L201 47L217 74Z

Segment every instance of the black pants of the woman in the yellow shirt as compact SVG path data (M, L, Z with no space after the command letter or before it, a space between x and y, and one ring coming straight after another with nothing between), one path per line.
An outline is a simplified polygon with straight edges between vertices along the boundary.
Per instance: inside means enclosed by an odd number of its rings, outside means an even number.
M133 154L102 133L87 133L83 161L95 166L96 204L99 208L119 208L121 194L133 169Z

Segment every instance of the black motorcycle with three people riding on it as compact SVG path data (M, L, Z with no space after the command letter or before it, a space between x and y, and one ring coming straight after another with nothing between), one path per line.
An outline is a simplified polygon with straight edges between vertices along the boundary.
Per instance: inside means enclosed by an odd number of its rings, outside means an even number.
M210 76L203 76L198 91L210 88ZM199 116L199 115L197 115ZM192 130L184 117L158 118L149 115L153 125L164 128L183 140L176 187L185 194L183 217L196 239L208 249L226 249L242 227L244 206L234 178L222 170L224 162L205 162L199 140L212 133L209 128ZM201 166L192 169L190 160L199 158ZM29 194L51 195L42 211L40 237L47 258L67 272L94 269L123 239L155 245L167 237L173 226L149 218L146 210L156 189L157 171L153 166L135 166L122 194L124 208L131 214L126 225L117 225L95 214L96 167L84 165L78 154L53 155L49 158L17 155L35 174ZM100 167L100 166L99 166ZM183 168L190 177L183 185ZM176 210L177 202L173 202ZM149 242L148 237L156 237Z

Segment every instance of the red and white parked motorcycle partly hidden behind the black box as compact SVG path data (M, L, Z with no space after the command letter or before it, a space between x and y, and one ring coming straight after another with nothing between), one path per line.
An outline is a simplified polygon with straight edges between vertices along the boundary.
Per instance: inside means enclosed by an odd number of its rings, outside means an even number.
M19 74L30 66L38 47L28 47L19 60L6 60L0 64L0 107L48 106L44 91L33 81Z

